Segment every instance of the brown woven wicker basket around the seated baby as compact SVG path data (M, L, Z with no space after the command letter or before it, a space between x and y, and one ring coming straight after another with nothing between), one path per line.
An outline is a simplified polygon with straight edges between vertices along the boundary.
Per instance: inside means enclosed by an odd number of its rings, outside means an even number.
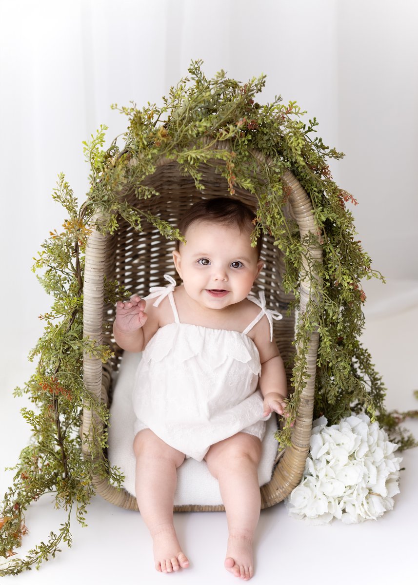
M230 146L225 142L217 143L215 147L230 149ZM265 159L259 153L254 154L262 164L270 164L269 159ZM155 173L146 180L146 184L154 187L160 196L138 202L131 186L126 188L124 197L129 201L135 200L135 205L140 204L154 215L160 215L163 219L176 224L184 211L199 198L203 196L205 198L220 197L227 194L227 183L219 173L215 172L214 167L207 164L201 167L201 171L203 173L202 183L205 185L204 194L196 191L193 178L180 174L176 162L162 159L159 161ZM286 171L283 180L289 186L290 191L285 213L297 222L301 237L309 232L316 232L310 198L290 171ZM239 188L235 189L234 197L254 207L256 205L255 197ZM153 226L144 226L144 228L148 231L138 234L128 223L121 221L117 233L113 236L102 236L98 232L93 232L86 249L84 335L90 336L98 343L109 343L115 352L115 357L103 366L100 360L85 355L84 383L91 394L95 397L101 397L108 404L112 394L112 371L118 367L121 350L111 337L111 328L104 328L104 323L112 324L115 316L114 307L104 306L104 277L110 280L117 279L132 292L145 296L150 287L163 284L163 274L168 273L176 276L172 261L174 243L167 242ZM265 261L265 268L259 275L253 292L265 291L267 306L279 310L283 314L282 320L275 321L274 335L283 360L290 363L287 367L287 379L290 387L291 362L295 351L292 345L295 315L293 312L291 315L285 315L285 313L292 297L286 295L282 289L284 271L282 253L273 245L272 238L266 236L264 240L262 259ZM302 259L304 274L307 276L301 283L300 312L304 312L310 298L310 278L318 278L316 274L311 273L311 267L315 265L315 262L311 260L321 261L320 247L314 245L307 247ZM299 412L292 429L292 445L282 452L283 455L273 470L272 479L261 488L262 508L268 508L282 501L300 482L309 450L317 347L318 334L313 333L307 361L309 377L303 388ZM86 407L81 428L83 436L87 437L83 443L84 456L91 457L90 446L96 440L97 433L101 432L100 425L97 414ZM106 500L124 508L138 510L135 498L127 491L115 488L108 479L103 477L94 476L92 480L97 493ZM175 507L174 510L219 511L224 510L224 508L222 506L190 505Z

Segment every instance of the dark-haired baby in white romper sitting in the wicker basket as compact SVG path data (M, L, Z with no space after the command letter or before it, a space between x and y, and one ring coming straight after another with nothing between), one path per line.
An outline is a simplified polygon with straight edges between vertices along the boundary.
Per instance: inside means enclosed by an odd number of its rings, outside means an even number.
M168 287L117 304L118 345L143 352L133 391L135 491L160 572L189 566L173 501L177 467L194 457L219 482L229 533L225 568L244 580L253 576L261 440L265 420L283 414L287 396L272 337L272 316L280 315L265 308L263 295L248 296L263 267L261 239L251 246L254 218L227 197L194 204L179 225L186 243L173 252L183 284L166 276Z

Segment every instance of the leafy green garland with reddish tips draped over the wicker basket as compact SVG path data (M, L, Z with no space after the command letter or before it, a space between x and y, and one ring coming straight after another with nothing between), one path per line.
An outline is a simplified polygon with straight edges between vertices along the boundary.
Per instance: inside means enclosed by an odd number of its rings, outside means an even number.
M113 233L120 218L138 232L143 222L150 222L167 238L181 238L172 225L141 205L143 199L157 196L143 180L156 170L160 157L177 161L181 173L194 178L197 190L204 191L199 166L205 163L217 167L231 195L239 187L256 196L259 205L253 239L263 230L284 252L283 287L293 292L296 304L304 246L314 240L322 247L323 261L314 267L322 284L317 284L318 290L312 295L315 302L309 302L297 324L296 342L301 352L294 363L293 381L299 391L289 399L290 417L280 440L284 444L290 440L290 424L306 378L307 342L315 330L320 333L320 346L314 415L324 414L329 424L335 424L351 411L366 411L387 428L399 429L399 415L396 418L386 412L385 387L371 356L359 342L365 301L361 280L383 278L372 269L371 259L356 239L346 204L357 202L331 177L328 162L341 159L342 153L316 136L316 119L304 122L306 112L296 102L283 105L280 97L267 105L256 101L265 75L246 84L227 78L224 71L207 79L201 61L191 63L189 74L170 88L162 107L149 102L142 109L134 104L128 108L112 106L128 118L124 144L119 148L115 139L104 149L105 126L84 143L91 174L90 191L81 207L64 176L59 176L53 198L66 209L68 219L63 230L50 233L35 259L34 270L40 271L40 283L52 295L53 304L49 313L40 316L45 322L44 335L29 356L37 360L35 374L15 391L16 395L27 394L33 402L33 411L22 409L32 427L33 442L23 449L13 468L13 485L2 505L0 554L8 558L8 563L0 567L1 575L38 568L43 560L55 555L61 542L71 545L71 515L75 513L85 525L86 507L94 494L92 474L109 477L120 485L118 470L109 469L101 455L107 442L105 432L98 436L91 458L80 456L84 439L78 429L83 407L98 412L104 424L108 418L107 407L96 403L85 390L83 352L100 357L102 362L110 357L107 345L97 346L94 340L83 338L84 252L94 226L102 233ZM214 149L215 141L228 141L232 149ZM260 164L254 151L270 157L272 163ZM286 221L282 212L289 195L282 180L286 169L299 179L313 205L317 233L303 241L297 226ZM128 188L135 190L135 205L123 197ZM96 214L102 218L98 225ZM124 295L118 283L105 283L105 302L114 304ZM403 446L413 444L402 433L399 441ZM27 530L25 510L47 493L54 495L58 508L67 510L67 521L25 559L15 560L14 551Z

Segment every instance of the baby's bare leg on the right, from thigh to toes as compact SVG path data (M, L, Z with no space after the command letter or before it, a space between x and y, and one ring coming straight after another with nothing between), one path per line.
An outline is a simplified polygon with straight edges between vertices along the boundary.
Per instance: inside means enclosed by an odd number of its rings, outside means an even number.
M258 463L261 441L248 433L237 433L215 443L205 460L219 481L228 521L225 568L241 579L253 576L252 543L260 516L261 497Z

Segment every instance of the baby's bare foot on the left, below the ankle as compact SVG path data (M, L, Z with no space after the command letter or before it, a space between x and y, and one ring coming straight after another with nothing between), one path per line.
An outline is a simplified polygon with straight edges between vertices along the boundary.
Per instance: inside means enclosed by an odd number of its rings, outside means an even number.
M172 524L158 526L151 533L154 550L155 568L160 573L171 573L181 568L187 569L189 560L180 550L176 531Z

